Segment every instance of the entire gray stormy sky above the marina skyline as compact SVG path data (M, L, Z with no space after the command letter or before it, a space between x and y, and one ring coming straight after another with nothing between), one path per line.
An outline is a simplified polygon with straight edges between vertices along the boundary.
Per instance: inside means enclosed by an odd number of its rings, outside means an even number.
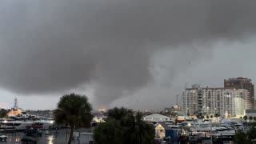
M3 105L52 109L62 94L95 108L154 109L185 83L254 80L254 1L2 1Z

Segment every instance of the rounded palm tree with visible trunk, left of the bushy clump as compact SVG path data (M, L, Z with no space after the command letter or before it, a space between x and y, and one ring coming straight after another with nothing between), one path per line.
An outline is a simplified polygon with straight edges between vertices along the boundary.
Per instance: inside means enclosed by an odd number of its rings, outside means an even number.
M85 95L66 94L60 98L58 108L54 110L54 120L57 124L70 126L68 144L71 143L74 128L90 127L90 121L93 118L91 110L91 105Z

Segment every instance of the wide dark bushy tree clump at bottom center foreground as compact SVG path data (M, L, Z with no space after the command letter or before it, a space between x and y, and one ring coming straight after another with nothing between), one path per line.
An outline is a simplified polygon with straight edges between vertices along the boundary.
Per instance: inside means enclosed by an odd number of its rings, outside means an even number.
M94 129L97 144L153 143L154 127L142 121L142 114L125 108L108 111L106 122Z

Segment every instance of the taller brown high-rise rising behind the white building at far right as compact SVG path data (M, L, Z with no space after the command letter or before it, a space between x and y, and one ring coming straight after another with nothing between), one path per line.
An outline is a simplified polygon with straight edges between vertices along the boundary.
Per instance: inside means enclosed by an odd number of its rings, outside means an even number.
M249 78L229 78L224 80L225 89L245 89L250 92L246 100L248 109L254 109L254 84Z

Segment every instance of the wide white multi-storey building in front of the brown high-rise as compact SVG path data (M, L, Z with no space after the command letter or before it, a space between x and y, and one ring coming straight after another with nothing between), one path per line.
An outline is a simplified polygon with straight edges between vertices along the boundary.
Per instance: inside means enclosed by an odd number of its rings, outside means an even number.
M247 109L247 99L250 96L248 90L206 87L200 89L202 90L202 98L200 98L200 91L198 90L197 87L193 87L183 91L183 110L186 110L187 114L199 114L198 106L200 107L200 105L202 106L201 113L203 115L229 114L234 117L243 115L244 110ZM200 98L199 101L198 98Z

